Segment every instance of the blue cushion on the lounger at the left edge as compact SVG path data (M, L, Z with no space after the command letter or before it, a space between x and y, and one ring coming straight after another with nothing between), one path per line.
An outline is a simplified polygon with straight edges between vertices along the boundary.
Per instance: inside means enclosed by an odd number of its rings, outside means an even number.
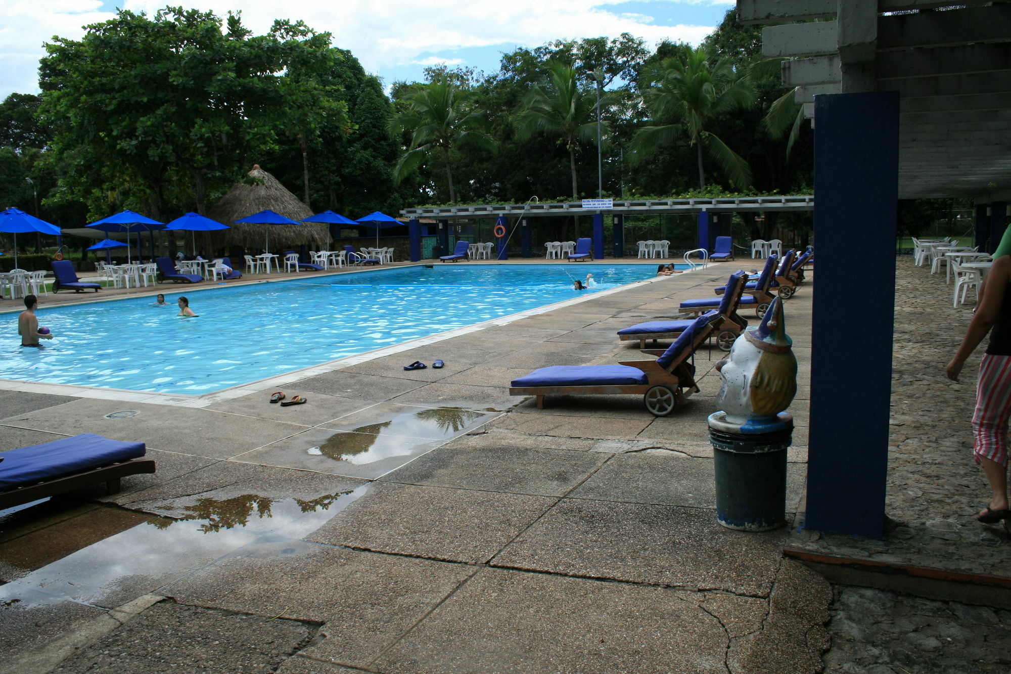
M94 433L10 449L0 462L0 491L137 458L146 451L144 442L110 440Z

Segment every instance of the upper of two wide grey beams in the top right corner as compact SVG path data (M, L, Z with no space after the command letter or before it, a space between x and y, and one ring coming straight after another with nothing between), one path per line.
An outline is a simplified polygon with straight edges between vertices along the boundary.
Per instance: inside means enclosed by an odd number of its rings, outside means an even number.
M878 49L1003 43L1008 39L1009 25L1011 5L882 16L878 19Z

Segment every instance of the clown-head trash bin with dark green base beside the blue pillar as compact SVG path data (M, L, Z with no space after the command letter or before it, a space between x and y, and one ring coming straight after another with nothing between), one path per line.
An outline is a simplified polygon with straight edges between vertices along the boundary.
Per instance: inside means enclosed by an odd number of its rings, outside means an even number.
M783 300L774 298L754 330L734 341L716 365L721 411L709 416L716 468L717 520L764 531L786 521L787 447L797 394L797 358L787 335Z

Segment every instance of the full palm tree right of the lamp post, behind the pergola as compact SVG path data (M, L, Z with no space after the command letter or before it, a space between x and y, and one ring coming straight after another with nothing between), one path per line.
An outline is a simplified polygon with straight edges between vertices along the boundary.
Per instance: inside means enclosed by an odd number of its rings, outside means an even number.
M754 88L733 64L712 60L704 48L686 57L664 59L646 74L652 86L643 92L643 102L653 124L639 130L634 140L637 154L657 145L687 137L695 146L699 165L699 188L706 187L703 146L738 187L751 183L751 168L713 133L707 131L721 114L750 107Z

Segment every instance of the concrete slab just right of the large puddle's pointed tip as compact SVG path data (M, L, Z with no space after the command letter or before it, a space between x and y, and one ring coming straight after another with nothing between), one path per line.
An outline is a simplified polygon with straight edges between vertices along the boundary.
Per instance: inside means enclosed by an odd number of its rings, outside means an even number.
M487 562L557 499L374 483L307 540L469 564Z

